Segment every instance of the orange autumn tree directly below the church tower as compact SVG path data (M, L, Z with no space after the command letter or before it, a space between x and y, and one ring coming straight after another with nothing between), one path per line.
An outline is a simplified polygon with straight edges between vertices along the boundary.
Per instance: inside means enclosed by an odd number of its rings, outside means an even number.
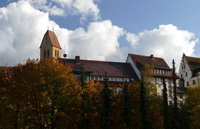
M57 60L40 61L40 74L42 75L42 94L44 112L48 128L57 127L58 123L64 127L73 127L77 123L80 105L80 87L71 69L60 64ZM73 117L72 117L73 116ZM61 120L62 122L60 122ZM72 120L72 121L71 121Z

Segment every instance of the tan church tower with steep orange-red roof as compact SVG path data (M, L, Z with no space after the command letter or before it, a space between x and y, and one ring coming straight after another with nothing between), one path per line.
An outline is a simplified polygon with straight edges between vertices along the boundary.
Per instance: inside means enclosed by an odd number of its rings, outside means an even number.
M40 59L61 58L61 49L55 33L47 30L40 45Z

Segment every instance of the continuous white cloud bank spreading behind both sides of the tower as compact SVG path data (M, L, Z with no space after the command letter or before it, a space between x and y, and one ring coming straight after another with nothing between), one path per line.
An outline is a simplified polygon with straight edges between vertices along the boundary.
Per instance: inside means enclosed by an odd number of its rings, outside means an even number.
M87 30L68 30L32 7L27 1L18 1L0 8L0 64L14 65L28 58L39 58L39 46L47 26L54 27L63 51L70 57L106 60L119 51L118 38L123 29L110 20L92 22Z

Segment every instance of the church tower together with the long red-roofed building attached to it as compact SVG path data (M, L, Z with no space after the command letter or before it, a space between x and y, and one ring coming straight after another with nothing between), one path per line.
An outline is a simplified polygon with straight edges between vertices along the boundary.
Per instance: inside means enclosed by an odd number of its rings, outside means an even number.
M80 67L84 68L86 80L104 81L105 74L109 84L120 84L125 82L138 82L139 78L130 63L85 60L80 56L74 59L61 58L61 46L53 31L47 30L40 46L40 59L58 58L58 60L70 66L75 76L80 76Z

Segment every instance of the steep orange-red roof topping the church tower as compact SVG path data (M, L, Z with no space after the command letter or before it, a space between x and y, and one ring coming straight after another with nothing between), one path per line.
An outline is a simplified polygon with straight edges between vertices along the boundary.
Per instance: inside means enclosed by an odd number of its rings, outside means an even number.
M51 44L54 46L54 47L57 47L57 48L61 48L60 46L60 43L58 41L58 38L56 36L56 34L53 32L53 31L50 31L50 30L47 30L46 33L44 34L43 36L43 40L44 41L44 38L48 36L49 37L49 40L51 42ZM41 46L40 46L41 47Z

